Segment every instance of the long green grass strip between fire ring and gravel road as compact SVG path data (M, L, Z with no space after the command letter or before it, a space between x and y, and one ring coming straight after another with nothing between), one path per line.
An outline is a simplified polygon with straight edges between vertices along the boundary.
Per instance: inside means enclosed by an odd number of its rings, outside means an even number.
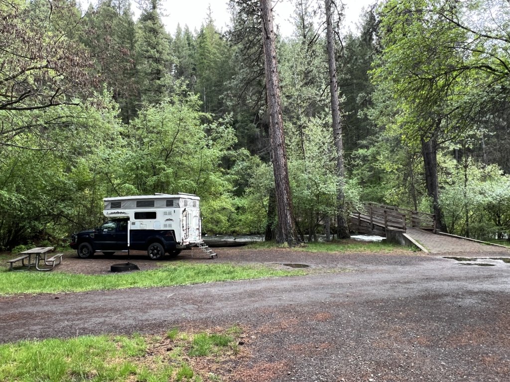
M304 275L302 270L266 266L185 264L176 262L158 269L109 275L75 275L58 272L0 270L0 295L58 293L90 290L151 288L213 281Z

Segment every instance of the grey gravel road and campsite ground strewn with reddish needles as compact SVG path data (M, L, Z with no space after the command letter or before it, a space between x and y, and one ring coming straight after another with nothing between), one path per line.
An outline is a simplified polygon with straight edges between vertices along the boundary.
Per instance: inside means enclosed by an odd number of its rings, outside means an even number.
M218 259L208 260L187 252L184 261L302 263L312 274L0 297L0 342L238 323L251 357L231 362L224 380L510 381L510 264L501 260L461 266L404 251L335 255L242 248L220 249ZM503 249L490 257L508 255ZM68 256L59 270L107 272L116 260L125 258ZM141 269L158 266L141 255L131 260Z

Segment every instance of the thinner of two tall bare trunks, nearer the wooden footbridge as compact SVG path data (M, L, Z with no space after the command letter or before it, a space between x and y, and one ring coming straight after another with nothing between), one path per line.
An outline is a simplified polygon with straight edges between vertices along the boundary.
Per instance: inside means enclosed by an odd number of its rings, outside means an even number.
M345 210L345 170L344 148L342 141L342 125L340 121L340 102L338 100L337 65L335 61L335 41L333 37L333 15L331 13L331 0L326 4L326 32L327 32L327 58L329 67L329 92L331 94L331 114L333 117L333 138L337 150L337 236L339 239L350 237Z

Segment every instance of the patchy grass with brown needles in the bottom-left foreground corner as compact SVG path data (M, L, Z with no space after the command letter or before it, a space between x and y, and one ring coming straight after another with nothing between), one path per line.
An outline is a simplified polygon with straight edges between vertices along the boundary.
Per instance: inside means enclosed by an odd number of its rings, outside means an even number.
M228 334L227 334L228 332ZM20 341L0 345L0 380L20 381L193 381L210 379L200 370L205 358L215 363L238 354L239 335L179 333L162 336L82 336L67 340ZM197 344L207 351L197 351ZM207 344L207 346L206 346ZM180 351L169 351L169 349ZM213 374L214 375L214 374Z

